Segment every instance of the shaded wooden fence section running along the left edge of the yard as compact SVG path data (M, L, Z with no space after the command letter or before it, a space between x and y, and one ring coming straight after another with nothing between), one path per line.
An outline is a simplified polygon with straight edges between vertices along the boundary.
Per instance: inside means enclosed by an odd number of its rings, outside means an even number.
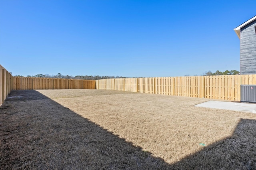
M2 65L0 65L0 105L12 90L13 77Z

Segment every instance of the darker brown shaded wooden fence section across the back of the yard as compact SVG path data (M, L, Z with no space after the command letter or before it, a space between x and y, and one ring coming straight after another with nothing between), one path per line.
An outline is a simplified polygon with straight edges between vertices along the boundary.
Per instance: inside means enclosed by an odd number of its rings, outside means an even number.
M95 89L95 80L14 77L13 90Z

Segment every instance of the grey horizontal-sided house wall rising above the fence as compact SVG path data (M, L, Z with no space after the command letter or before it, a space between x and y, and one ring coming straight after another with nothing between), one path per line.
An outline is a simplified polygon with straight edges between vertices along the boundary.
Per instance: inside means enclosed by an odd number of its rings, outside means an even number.
M256 21L241 28L240 74L256 74Z

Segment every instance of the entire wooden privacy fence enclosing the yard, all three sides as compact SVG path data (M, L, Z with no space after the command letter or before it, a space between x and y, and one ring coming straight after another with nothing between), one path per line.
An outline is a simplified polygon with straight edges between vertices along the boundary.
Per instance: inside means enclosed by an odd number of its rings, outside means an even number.
M256 74L77 80L13 77L0 65L0 104L11 90L105 89L172 96L240 101L240 85L256 85Z

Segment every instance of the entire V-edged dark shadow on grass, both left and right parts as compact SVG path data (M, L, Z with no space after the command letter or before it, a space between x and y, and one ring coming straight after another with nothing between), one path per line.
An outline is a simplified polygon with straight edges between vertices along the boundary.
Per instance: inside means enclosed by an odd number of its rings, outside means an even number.
M167 164L37 91L8 97L0 109L0 169L256 168L255 120L241 119L232 137Z

